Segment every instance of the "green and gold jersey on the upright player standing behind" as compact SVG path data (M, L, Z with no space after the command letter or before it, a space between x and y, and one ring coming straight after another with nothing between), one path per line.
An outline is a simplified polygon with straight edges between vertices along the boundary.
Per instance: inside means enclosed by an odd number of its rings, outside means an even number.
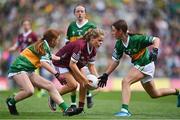
M67 30L67 39L69 42L73 42L82 37L86 31L90 28L96 28L96 25L92 22L85 22L84 25L79 26L76 21L71 22Z

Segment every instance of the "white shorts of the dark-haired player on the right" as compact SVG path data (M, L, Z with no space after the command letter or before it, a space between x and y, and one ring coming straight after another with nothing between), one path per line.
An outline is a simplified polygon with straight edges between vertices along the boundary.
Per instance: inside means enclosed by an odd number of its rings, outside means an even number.
M145 74L145 77L141 79L143 84L153 80L155 72L154 62L151 62L145 66L135 65L134 67Z

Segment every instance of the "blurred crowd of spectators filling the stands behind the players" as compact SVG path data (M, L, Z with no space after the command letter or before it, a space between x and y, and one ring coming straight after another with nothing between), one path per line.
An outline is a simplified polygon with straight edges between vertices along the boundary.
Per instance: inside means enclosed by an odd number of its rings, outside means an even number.
M39 37L48 28L61 31L61 48L67 27L75 19L73 9L78 3L86 6L88 19L106 34L96 62L100 74L111 61L115 43L111 24L125 19L130 32L160 37L155 76L180 78L179 0L0 0L0 76L7 76L9 65L18 54L8 52L8 48L22 31L24 18L32 20L33 31ZM129 62L129 57L124 56L113 75L124 76L131 67Z

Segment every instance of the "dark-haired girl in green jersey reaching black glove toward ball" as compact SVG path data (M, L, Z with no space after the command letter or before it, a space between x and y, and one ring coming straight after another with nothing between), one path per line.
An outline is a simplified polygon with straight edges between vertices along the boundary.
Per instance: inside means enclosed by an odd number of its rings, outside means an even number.
M131 57L131 62L134 67L130 69L128 74L122 80L122 107L121 111L115 113L115 116L131 116L128 110L128 104L131 98L130 86L138 81L151 98L159 98L168 95L177 95L177 107L180 107L179 90L173 88L156 89L153 77L155 72L154 61L157 59L160 39L158 37L129 34L127 33L128 26L124 20L118 20L112 25L112 35L117 39L114 52L112 55L112 63L109 65L106 72L99 77L99 87L106 86L108 76L119 65L120 58L123 53ZM149 52L148 48L153 49Z

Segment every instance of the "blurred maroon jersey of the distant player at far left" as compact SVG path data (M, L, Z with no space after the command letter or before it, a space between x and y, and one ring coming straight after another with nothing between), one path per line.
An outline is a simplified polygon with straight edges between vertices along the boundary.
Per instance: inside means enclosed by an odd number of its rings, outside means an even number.
M17 37L17 45L20 51L37 41L37 35L34 32L21 33Z

